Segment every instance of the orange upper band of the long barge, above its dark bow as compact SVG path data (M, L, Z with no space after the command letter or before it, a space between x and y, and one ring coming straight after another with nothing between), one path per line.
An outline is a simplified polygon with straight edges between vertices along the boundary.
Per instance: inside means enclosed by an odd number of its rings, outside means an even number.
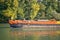
M60 24L60 21L30 21L30 20L9 20L10 24Z

